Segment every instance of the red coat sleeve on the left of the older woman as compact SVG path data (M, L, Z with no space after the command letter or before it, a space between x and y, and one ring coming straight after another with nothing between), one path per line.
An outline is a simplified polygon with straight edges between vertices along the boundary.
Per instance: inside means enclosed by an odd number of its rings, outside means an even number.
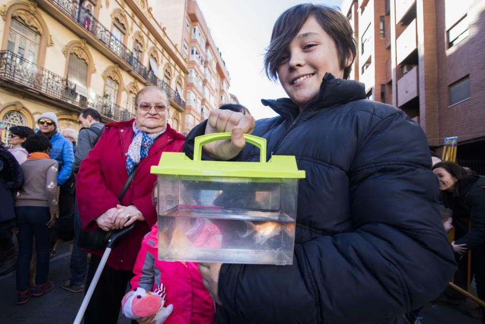
M101 170L101 158L109 145L107 131L99 138L97 145L89 151L88 156L82 160L81 168L76 176L76 200L79 215L84 229L97 228L95 218L110 208L119 204L118 197L106 185Z

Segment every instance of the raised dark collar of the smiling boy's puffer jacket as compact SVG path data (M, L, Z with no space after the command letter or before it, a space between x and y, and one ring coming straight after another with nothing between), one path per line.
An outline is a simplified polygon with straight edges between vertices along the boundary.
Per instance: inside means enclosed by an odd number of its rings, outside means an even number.
M330 108L337 105L365 99L365 86L354 80L336 79L331 73L325 73L320 84L317 98L307 104L304 110ZM278 115L295 119L300 108L290 98L261 100L262 104L271 107Z

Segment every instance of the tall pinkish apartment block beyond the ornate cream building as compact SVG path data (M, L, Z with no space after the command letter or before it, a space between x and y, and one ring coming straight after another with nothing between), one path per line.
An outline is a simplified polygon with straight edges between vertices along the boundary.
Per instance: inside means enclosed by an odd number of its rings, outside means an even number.
M206 119L210 110L230 101L229 72L196 1L152 0L152 3L154 15L187 60L189 77L182 130L189 131Z

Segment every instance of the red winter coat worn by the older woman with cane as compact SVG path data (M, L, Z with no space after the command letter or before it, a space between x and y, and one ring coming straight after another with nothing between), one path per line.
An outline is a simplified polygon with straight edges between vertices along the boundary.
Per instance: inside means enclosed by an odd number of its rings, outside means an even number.
M94 219L120 203L118 195L128 179L125 154L134 136L133 122L134 119L106 124L96 146L81 162L76 176L76 199L82 227L86 230L98 228ZM184 138L167 124L166 132L155 140L148 156L140 161L121 205L135 205L145 222L138 222L113 248L107 265L114 270L133 269L142 239L157 221L151 197L157 177L150 174L150 167L158 165L162 152L181 152ZM103 250L88 252L103 254Z

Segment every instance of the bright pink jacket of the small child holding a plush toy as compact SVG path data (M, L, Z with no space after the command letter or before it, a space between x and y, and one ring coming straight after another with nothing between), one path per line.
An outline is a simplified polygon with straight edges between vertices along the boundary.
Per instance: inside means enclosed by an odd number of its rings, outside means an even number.
M212 324L215 303L204 288L195 262L167 262L158 260L158 225L142 240L131 279L131 289L141 287L154 291L162 283L166 289L165 305L174 306L164 324ZM150 316L151 317L151 316ZM151 323L140 318L138 323Z

